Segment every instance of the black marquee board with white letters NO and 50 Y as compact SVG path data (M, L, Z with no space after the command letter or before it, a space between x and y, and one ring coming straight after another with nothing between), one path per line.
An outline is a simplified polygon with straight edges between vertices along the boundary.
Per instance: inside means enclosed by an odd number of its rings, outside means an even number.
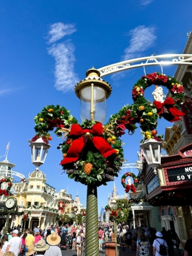
M192 181L192 165L186 167L167 169L167 176L169 182L187 180Z

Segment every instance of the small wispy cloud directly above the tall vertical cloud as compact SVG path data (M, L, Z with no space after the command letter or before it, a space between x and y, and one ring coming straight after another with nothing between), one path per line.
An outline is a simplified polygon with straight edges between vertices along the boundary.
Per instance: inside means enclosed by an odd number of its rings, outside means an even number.
M48 32L48 44L52 44L66 35L71 35L75 31L77 31L77 29L74 24L63 24L61 22L54 23L50 26L50 30Z

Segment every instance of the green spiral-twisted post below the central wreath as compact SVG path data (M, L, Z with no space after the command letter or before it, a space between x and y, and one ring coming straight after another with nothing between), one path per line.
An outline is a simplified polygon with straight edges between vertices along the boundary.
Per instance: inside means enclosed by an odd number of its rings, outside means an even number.
M99 256L97 186L87 187L86 256Z

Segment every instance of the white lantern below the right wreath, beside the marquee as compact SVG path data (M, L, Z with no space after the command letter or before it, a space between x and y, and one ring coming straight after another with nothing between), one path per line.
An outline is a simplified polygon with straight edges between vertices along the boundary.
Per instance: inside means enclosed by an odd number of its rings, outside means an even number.
M154 139L147 139L144 143L140 144L140 147L144 152L147 164L154 169L154 174L157 174L156 168L161 164L162 142Z

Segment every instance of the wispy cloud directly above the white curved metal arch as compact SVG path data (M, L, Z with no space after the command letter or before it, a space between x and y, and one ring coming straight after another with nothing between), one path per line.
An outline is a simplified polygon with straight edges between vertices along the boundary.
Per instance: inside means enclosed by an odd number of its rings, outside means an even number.
M157 36L154 27L138 26L129 32L130 45L124 50L123 59L133 59L141 56L141 53L154 45Z

